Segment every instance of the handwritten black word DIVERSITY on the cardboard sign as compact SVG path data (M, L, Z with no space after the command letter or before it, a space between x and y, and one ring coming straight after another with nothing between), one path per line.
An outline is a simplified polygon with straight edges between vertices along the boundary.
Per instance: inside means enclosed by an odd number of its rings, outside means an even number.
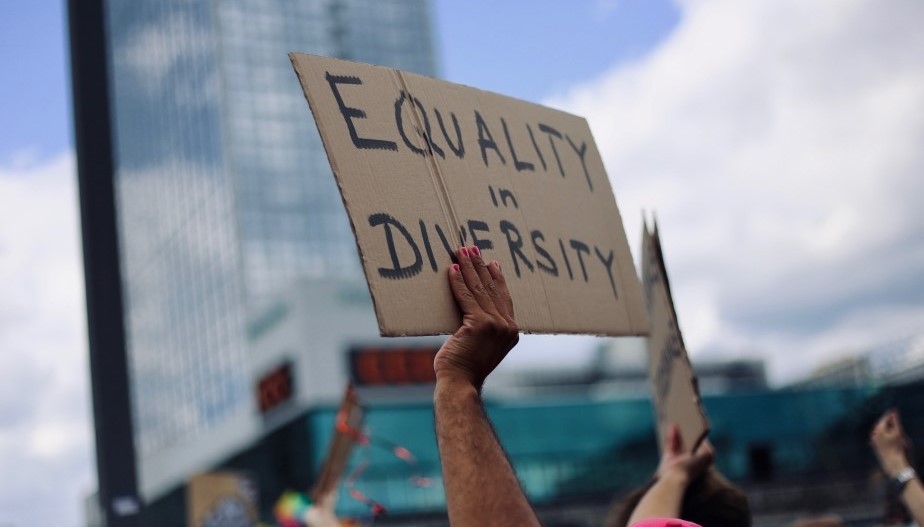
M418 224L412 227L416 229L416 232L412 234L410 229L401 221L389 214L380 212L369 215L369 225L382 227L382 233L385 236L385 243L391 257L391 267L378 268L379 276L382 278L401 280L420 274L424 269L424 254L429 262L430 269L438 272L440 267L434 254L434 242L437 238L439 239L439 246L442 246L453 262L456 261L453 244L450 243L446 231L438 224L433 225L431 232L424 220L418 220ZM466 226L468 227L467 229ZM417 233L419 233L419 237L416 236ZM400 238L396 234L400 235ZM619 298L614 277L615 258L613 249L601 248L596 245L590 246L581 240L573 238L546 240L542 231L534 229L529 232L522 232L513 222L507 220L501 220L498 223L497 231L492 231L491 227L484 221L468 220L461 227L459 234L463 244L471 243L481 251L495 249L494 240L501 240L499 242L501 247L497 250L506 248L510 251L510 259L513 261L513 269L518 278L525 272L535 273L541 271L553 277L567 275L568 279L572 281L583 279L584 282L589 282L593 276L605 274L609 280L613 296L617 299ZM471 237L471 242L468 241L469 237ZM401 261L399 252L407 254L407 251L399 251L399 244L403 244L406 250L413 253L414 259L412 262L407 262L407 259L404 262ZM423 252L421 252L421 249L423 249Z

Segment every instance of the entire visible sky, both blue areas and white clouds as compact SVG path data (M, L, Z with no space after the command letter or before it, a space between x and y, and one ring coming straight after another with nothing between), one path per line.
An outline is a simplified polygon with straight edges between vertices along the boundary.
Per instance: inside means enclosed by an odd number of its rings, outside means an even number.
M79 525L95 477L63 6L0 4L12 527ZM759 357L786 382L924 334L924 3L435 0L434 16L444 77L588 118L633 250L658 213L694 364ZM508 363L561 362L521 342Z

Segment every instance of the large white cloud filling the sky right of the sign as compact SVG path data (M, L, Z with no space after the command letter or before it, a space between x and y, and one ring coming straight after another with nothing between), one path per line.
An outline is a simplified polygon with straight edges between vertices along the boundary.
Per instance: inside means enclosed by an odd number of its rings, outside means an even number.
M679 3L589 117L633 250L656 210L691 351L777 380L924 331L924 4Z

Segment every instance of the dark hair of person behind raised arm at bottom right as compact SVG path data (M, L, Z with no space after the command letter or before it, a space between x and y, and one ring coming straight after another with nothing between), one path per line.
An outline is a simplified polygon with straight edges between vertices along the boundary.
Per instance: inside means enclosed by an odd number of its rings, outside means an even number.
M652 479L644 487L630 492L622 500L619 512L610 515L606 527L628 527L632 511L655 481ZM680 506L680 518L704 527L751 527L751 506L744 491L710 468L687 487Z

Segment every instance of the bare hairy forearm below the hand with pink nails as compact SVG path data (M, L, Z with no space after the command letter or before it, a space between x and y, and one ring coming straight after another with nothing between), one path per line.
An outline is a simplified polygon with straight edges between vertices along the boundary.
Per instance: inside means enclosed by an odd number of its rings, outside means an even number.
M437 380L434 411L450 523L539 525L474 386Z

